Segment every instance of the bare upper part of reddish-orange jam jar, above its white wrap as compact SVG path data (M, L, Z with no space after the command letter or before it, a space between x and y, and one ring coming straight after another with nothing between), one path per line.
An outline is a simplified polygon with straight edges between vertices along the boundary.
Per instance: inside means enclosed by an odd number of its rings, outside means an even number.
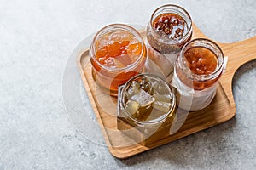
M218 82L224 68L224 54L211 40L199 38L184 45L175 71L185 85L204 90Z

